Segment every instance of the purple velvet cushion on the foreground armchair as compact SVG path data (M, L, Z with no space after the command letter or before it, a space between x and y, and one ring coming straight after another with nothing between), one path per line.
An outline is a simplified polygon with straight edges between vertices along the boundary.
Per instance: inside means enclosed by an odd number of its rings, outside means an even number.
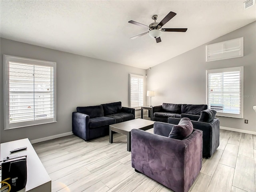
M172 127L169 138L183 140L188 137L193 131L193 125L189 118L182 118L178 125Z

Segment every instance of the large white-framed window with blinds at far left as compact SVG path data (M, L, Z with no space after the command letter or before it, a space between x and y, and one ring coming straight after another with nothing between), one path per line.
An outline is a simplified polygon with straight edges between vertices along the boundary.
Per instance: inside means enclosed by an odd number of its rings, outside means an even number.
M56 122L56 63L4 55L4 129Z

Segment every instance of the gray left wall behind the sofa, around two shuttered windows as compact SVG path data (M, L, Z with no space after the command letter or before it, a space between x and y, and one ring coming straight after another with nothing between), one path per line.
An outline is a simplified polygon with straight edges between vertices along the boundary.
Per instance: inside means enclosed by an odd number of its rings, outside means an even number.
M22 138L34 140L70 132L72 131L72 112L76 110L76 106L90 106L116 101L122 101L122 106L129 106L129 73L146 74L144 69L3 38L0 39L0 51L1 142ZM58 122L4 130L3 54L57 62ZM140 116L140 110L136 111L136 116Z

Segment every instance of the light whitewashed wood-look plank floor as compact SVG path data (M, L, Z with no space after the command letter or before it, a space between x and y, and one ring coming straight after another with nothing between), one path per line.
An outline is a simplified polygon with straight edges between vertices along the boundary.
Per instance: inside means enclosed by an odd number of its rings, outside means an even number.
M152 132L153 129L148 130ZM52 179L53 192L167 192L134 172L126 136L85 142L71 135L33 144ZM220 130L220 146L202 170L191 192L255 192L256 136Z

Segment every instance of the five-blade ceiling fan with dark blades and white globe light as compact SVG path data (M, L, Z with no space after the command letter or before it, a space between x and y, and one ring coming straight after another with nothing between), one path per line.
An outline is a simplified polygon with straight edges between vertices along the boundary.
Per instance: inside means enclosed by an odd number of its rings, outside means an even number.
M149 34L150 37L155 38L156 42L159 43L159 42L161 42L160 36L161 36L162 32L165 32L165 31L166 32L186 32L188 30L187 28L162 28L162 26L164 26L164 24L166 24L175 15L176 15L176 13L174 13L174 12L168 13L160 23L156 22L156 20L158 19L158 16L153 15L152 19L154 20L154 22L151 23L149 26L138 23L136 21L132 21L132 20L128 21L131 24L135 24L135 25L142 26L142 27L147 27L149 29L148 32L136 35L134 37L131 37L130 39L135 39L137 37Z

